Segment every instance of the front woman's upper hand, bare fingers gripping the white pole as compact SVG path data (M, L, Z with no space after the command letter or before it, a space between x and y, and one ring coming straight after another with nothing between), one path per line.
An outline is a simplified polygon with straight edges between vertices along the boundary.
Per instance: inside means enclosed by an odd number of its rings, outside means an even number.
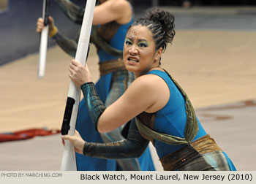
M69 64L69 78L80 87L84 83L91 82L91 74L89 68L80 64L80 62L75 61L72 59L71 63Z

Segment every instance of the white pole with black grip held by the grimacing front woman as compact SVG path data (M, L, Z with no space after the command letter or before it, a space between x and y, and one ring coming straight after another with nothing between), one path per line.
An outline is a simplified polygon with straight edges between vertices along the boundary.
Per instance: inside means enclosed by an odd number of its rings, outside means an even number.
M83 66L86 64L86 57L89 50L89 39L91 34L92 19L96 0L87 0L86 9L83 15L83 23L78 40L78 48L75 53L75 60L80 61ZM75 134L75 123L78 116L78 105L80 101L80 88L71 81L67 97L67 104L64 113L64 120L61 127L61 134ZM61 161L61 171L76 171L75 150L69 141L65 140L64 153Z

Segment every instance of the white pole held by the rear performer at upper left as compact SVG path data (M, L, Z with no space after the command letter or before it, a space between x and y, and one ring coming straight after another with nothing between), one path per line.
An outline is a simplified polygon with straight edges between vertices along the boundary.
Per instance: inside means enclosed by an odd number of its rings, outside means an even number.
M48 30L49 30L49 11L50 11L50 0L43 0L42 4L42 18L44 19L44 28L41 32L40 46L39 46L39 64L38 64L38 77L45 76L45 63L46 63L46 52L48 42Z

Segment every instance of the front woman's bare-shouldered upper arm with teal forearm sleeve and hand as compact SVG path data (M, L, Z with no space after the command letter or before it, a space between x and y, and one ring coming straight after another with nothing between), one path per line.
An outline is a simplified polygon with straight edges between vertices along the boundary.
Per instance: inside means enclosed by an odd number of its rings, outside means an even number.
M82 66L73 59L69 65L69 78L75 85L81 86L91 118L99 132L112 131L141 112L157 112L165 107L170 99L170 90L161 77L143 74L129 85L119 99L105 108L91 82L91 74L87 65ZM162 92L161 95L159 91Z

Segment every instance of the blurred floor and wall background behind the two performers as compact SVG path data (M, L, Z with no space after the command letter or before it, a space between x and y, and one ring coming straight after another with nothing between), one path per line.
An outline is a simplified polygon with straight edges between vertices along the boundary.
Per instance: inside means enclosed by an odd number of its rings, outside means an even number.
M132 5L135 18L150 7L173 13L176 37L162 67L187 92L200 122L237 169L255 170L256 0L133 0ZM55 1L50 15L61 33L75 37L80 26ZM41 16L42 0L0 0L0 134L61 129L72 58L48 39L45 77L37 78L36 23ZM94 81L99 78L97 62L91 47L88 64ZM59 134L0 142L0 170L59 170L62 152Z

